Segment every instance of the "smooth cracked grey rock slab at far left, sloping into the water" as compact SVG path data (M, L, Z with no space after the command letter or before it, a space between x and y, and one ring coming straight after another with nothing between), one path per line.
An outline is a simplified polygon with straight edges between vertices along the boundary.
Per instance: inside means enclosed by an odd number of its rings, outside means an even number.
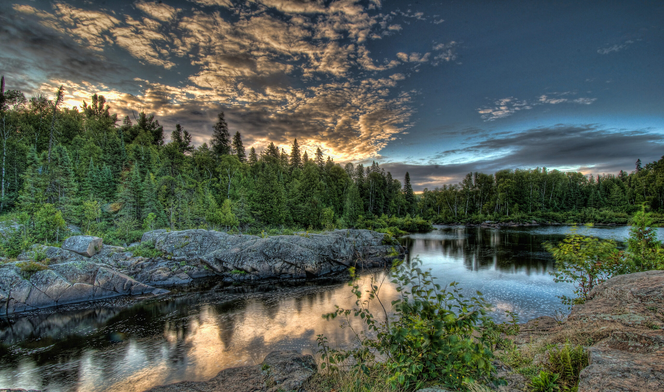
M137 282L104 264L70 261L27 275L21 262L0 266L0 309L4 314L127 294L168 292Z

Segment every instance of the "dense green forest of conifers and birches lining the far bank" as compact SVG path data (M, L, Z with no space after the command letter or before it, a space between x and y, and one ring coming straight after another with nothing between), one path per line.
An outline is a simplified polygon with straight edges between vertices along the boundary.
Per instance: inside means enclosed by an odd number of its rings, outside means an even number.
M504 169L414 193L378 162L335 163L320 148L274 143L246 149L224 113L208 143L193 146L177 124L152 114L118 118L102 95L65 108L54 96L27 99L0 88L0 213L13 227L11 256L33 243L59 243L73 226L105 243L137 241L153 229L207 228L258 235L356 227L383 233L436 223L629 223L646 202L664 212L664 159L630 173ZM186 124L185 124L186 125ZM233 132L235 131L235 132ZM311 155L309 155L311 153ZM664 216L664 215L662 215Z

